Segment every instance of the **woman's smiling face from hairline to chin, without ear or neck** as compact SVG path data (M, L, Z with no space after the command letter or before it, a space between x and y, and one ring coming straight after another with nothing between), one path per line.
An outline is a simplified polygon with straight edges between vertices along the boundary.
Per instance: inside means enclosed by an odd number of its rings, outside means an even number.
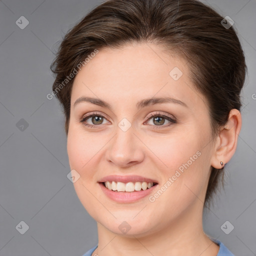
M201 213L214 145L188 68L154 44L129 44L99 50L75 76L69 164L77 196L103 228L149 234Z

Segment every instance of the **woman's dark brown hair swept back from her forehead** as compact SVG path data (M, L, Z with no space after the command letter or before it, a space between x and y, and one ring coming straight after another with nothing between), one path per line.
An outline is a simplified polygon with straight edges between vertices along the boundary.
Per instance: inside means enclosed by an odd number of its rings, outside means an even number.
M151 42L186 59L194 88L208 101L213 139L232 108L240 110L247 70L233 27L225 28L215 10L197 0L108 0L92 9L64 36L50 68L53 94L65 114L68 133L73 78L63 80L93 51L129 42ZM61 89L59 84L61 84ZM223 186L223 171L212 167L204 206Z

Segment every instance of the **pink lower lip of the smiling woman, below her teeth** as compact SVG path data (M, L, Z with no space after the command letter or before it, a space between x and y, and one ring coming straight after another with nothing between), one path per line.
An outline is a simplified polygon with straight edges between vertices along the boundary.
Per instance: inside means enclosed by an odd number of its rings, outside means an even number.
M149 195L153 189L157 186L151 186L150 188L147 188L146 190L139 190L139 191L133 191L133 192L125 192L125 191L113 191L104 186L103 183L99 183L102 191L105 193L106 196L108 196L110 199L116 201L116 202L134 202L137 201L147 195Z

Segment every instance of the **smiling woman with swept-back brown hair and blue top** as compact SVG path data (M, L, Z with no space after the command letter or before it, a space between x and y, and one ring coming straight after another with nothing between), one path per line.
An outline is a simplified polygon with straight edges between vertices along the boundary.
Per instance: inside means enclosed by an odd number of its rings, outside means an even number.
M241 128L230 22L196 0L108 0L51 69L74 188L97 221L84 255L233 255L202 227Z

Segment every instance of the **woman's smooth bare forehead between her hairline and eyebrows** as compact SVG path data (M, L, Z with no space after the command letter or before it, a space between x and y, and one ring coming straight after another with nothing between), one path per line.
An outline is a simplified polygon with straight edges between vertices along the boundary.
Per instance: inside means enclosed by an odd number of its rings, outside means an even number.
M204 100L193 89L186 61L150 43L100 49L76 74L71 105L80 96L122 104L153 96L175 97L190 106Z

